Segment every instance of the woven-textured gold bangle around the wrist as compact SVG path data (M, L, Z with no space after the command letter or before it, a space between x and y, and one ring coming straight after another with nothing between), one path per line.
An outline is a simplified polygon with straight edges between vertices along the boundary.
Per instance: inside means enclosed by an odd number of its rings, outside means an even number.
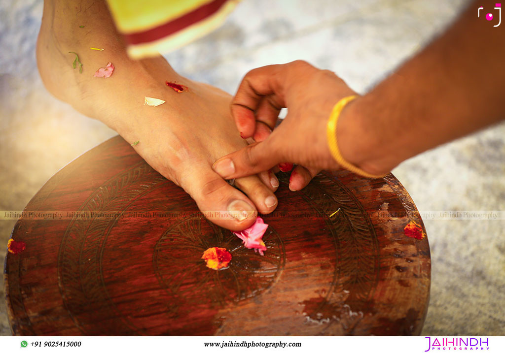
M340 113L342 112L342 109L349 103L350 101L358 98L357 95L352 95L352 96L347 96L342 99L340 99L337 104L333 107L333 110L331 111L330 114L330 119L328 119L328 125L326 127L326 137L328 139L328 147L330 148L331 155L335 160L337 161L338 164L343 166L345 169L352 171L353 173L356 173L358 175L362 175L362 177L367 177L367 178L382 178L384 175L374 175L367 173L366 171L358 168L356 165L351 164L347 162L343 157L342 154L340 153L340 150L338 149L338 143L337 143L337 122L338 122L338 117L340 116Z

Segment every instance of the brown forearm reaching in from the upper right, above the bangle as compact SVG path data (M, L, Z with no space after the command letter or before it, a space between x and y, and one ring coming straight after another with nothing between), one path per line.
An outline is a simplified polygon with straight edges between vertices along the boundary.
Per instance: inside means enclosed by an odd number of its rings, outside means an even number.
M505 37L502 28L481 21L482 14L477 18L477 8L471 5L421 53L344 110L343 132L356 119L356 133L365 138L356 151L345 151L357 165L390 170L503 119ZM339 140L346 148L352 136L343 132Z

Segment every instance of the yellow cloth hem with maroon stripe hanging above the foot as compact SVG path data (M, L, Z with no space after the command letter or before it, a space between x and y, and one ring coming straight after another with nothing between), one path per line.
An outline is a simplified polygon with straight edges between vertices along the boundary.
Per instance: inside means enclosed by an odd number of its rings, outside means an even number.
M107 0L132 58L177 49L219 27L239 0Z

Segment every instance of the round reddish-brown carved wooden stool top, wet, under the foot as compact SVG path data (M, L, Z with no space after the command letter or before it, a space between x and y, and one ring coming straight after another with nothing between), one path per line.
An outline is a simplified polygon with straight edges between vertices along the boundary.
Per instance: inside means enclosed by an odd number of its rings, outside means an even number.
M8 254L7 306L16 335L412 335L430 289L422 220L390 174L323 172L300 192L280 173L265 256L199 213L122 138L60 170L25 211ZM337 213L334 213L340 209ZM424 229L424 226L423 226ZM200 259L227 248L230 266Z

